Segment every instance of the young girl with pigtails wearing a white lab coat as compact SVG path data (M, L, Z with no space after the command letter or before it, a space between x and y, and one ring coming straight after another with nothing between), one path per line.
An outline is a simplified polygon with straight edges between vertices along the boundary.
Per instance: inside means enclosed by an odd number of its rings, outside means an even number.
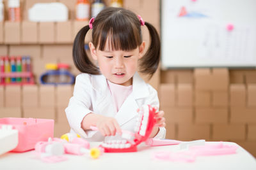
M147 26L151 38L144 56L142 26ZM90 29L89 47L97 66L84 50L84 38ZM82 74L76 77L74 96L65 110L71 131L88 141L103 141L106 136L118 136L122 130L133 132L138 108L143 104L159 106L156 90L137 73L152 76L159 64L159 53L156 29L132 11L105 8L92 18L77 33L73 46L74 63ZM165 138L163 115L163 111L157 112L150 138ZM98 131L92 131L92 126Z

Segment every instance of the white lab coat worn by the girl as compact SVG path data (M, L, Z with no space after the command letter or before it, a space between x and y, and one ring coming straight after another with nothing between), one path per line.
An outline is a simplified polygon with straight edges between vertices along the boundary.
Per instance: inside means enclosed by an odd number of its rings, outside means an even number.
M157 91L145 83L136 73L132 80L132 92L116 113L111 92L106 78L100 75L82 73L76 77L74 94L65 109L70 132L76 132L88 141L103 141L104 136L97 131L86 131L81 122L88 113L97 113L106 117L114 117L121 129L134 132L137 109L143 104L159 107ZM166 129L161 127L155 138L165 138Z

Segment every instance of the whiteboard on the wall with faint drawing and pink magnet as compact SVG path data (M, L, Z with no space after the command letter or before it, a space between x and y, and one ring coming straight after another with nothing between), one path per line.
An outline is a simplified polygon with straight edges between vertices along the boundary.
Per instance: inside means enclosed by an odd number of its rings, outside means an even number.
M256 67L255 0L162 0L161 63Z

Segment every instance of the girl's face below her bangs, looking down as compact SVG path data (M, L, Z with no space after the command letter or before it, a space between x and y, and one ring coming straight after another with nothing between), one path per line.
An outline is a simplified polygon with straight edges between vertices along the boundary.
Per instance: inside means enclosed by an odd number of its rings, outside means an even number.
M108 42L108 41L106 41ZM113 51L106 43L104 51L95 49L92 42L89 43L93 59L98 61L100 72L112 83L118 85L132 85L132 76L138 68L138 59L142 57L145 42L132 51Z

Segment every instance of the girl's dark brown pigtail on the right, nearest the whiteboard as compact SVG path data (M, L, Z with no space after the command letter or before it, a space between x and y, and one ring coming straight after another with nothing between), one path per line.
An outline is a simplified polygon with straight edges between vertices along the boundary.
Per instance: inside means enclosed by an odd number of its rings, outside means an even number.
M156 72L160 61L160 38L155 27L145 22L150 35L150 45L145 55L141 58L140 72L150 74L150 78Z

